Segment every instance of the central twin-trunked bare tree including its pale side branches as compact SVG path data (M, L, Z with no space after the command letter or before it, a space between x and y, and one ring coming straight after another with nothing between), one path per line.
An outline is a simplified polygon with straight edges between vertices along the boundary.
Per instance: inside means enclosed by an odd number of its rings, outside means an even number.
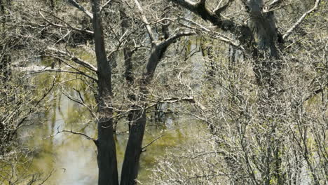
M69 70L46 69L43 71L80 74L81 76L88 78L88 81L97 83L95 100L97 102L98 138L93 139L93 141L97 146L97 161L99 167L98 184L118 184L113 111L115 110L118 113L123 112L125 115L130 114L132 116L130 119L131 123L128 145L125 150L125 158L121 172L121 184L136 184L135 179L137 179L137 174L139 171L139 158L142 153L142 140L146 126L146 109L154 106L154 104L149 104L149 100L146 98L149 96L147 87L151 84L156 67L158 66L160 60L163 59L164 53L168 46L182 36L189 36L195 34L195 32L187 32L184 29L178 29L177 32L173 34L166 32L165 39L163 40L156 39L153 29L151 28L151 25L149 25L146 15L142 9L142 5L139 4L139 1L130 1L125 2L124 4L116 1L107 1L104 4L100 4L100 1L92 1L92 12L88 11L88 8L82 4L79 4L77 1L69 1L69 3L78 8L79 11L81 11L93 22L93 31L80 29L78 28L78 25L66 22L58 15L43 9L39 11L39 15L41 15L41 19L43 19L43 21L48 22L50 27L70 29L71 31L67 34L73 30L80 33L87 32L88 34L92 34L95 45L97 67L94 67L93 64L75 57L74 53L69 52L69 50L60 50L58 49L60 47L48 47L43 56L50 56L59 60L60 62L66 64L69 67ZM135 8L132 8L132 5L135 5ZM119 6L121 6L121 9L118 9ZM110 10L112 7L117 8L115 9L115 13L118 11L121 11L121 13L115 15ZM144 42L144 39L141 39L142 43L137 43L132 46L132 41L128 41L130 38L130 29L132 29L133 34L134 32L137 32L134 29L139 28L134 28L134 25L128 22L128 19L130 18L127 15L127 11L131 11L131 15L135 14L133 15L133 19L135 19L136 22L139 22L139 25L144 27L143 30L145 31L142 32L146 32L149 36L149 41L147 41L147 43ZM114 22L119 16L121 16L122 21L117 25L104 24L103 20L111 19L110 17L107 18L107 16L111 15L114 16L114 18L109 21ZM161 21L162 20L159 20L159 22ZM52 28L50 27L49 29L51 30ZM116 27L119 29L116 29ZM108 31L104 31L105 28ZM119 32L116 32L116 30L122 30L121 35ZM137 34L139 34L139 32L137 32ZM64 35L59 40L64 41L65 37L66 36ZM106 37L109 37L114 41L107 43ZM59 43L59 40L55 43ZM131 60L133 54L135 54L135 51L138 48L144 47L142 46L143 44L151 46L151 49L149 50L149 53L145 51L142 51L141 54L138 53L138 55L143 55L143 57L146 58L146 65L143 71L136 71L136 74L140 74L140 76L134 77L132 76ZM105 45L109 45L109 47ZM114 69L114 64L118 60L116 55L122 50L122 48L125 55L125 78L131 88L132 85L134 85L134 88L137 87L132 92L134 97L129 97L129 101L133 103L131 105L128 104L128 110L126 111L120 111L116 108L115 103L121 100L116 100L112 90L112 86L114 84L112 83L112 71ZM83 67L86 71L79 69L79 67ZM95 77L95 75L97 77ZM114 80L116 81L118 79L115 78ZM185 98L183 100L189 101L191 98ZM172 99L168 99L167 101L172 101ZM173 102L177 101L179 101L179 98L173 100ZM90 139L90 137L88 137L88 139Z

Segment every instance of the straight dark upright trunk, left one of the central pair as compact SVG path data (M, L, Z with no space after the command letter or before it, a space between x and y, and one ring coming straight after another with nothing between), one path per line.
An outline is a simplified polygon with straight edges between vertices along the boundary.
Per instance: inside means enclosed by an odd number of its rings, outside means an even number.
M95 40L95 53L97 58L98 76L98 139L97 162L99 168L99 185L117 185L118 172L116 160L116 146L113 135L113 122L111 119L111 67L107 61L104 46L102 19L100 16L100 1L93 0L93 29Z

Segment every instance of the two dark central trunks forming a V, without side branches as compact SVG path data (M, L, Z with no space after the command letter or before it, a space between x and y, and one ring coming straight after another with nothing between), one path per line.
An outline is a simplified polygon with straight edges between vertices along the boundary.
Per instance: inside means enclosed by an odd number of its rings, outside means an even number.
M88 14L88 13L87 13ZM111 67L107 61L106 50L104 47L104 34L102 28L102 19L100 15L100 1L93 0L93 15L90 16L93 20L95 53L97 57L97 76L98 76L98 97L100 121L98 122L98 139L97 145L97 162L99 168L98 185L118 184L117 160L116 160L116 146L113 135L113 123L111 116L113 114L111 108ZM121 13L122 18L126 18L125 13ZM128 28L128 22L122 22L121 25ZM149 27L149 25L148 25ZM165 38L168 38L168 32L165 32ZM171 43L181 36L188 36L193 33L186 32L175 34L174 36L159 43L153 43L151 55L142 80L139 81L140 92L146 95L148 92L146 86L151 82L154 71L158 62L163 57ZM132 76L132 50L125 48L125 65L127 68L126 80L130 85L133 83ZM141 97L141 101L144 100ZM121 185L136 184L137 174L139 171L139 158L142 153L142 140L146 128L146 112L145 110L137 110L133 114L133 123L130 128L130 135L128 144L125 149L125 156L123 161L121 173Z

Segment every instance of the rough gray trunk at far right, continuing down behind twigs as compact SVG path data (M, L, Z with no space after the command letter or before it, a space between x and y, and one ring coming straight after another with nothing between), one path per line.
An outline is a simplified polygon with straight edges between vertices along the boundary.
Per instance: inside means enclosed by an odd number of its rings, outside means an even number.
M248 27L252 30L256 47L259 50L258 55L254 58L254 74L257 76L257 83L264 87L261 100L263 104L267 104L268 107L276 105L275 101L279 99L281 83L281 68L282 63L280 56L278 55L277 41L278 41L278 29L275 26L275 15L273 11L264 11L263 0L247 0L244 1L247 13L250 15ZM275 107L275 106L273 106ZM270 119L269 113L275 114L276 109L261 109L264 115L264 120ZM273 118L272 118L273 119ZM274 127L274 126L273 126ZM272 135L275 135L276 129L273 129ZM274 139L274 138L272 138ZM282 182L281 172L281 158L280 158L280 144L271 143L267 148L265 161L266 169L264 170L265 184L271 184L271 179L275 177L278 184ZM270 167L272 164L274 167Z

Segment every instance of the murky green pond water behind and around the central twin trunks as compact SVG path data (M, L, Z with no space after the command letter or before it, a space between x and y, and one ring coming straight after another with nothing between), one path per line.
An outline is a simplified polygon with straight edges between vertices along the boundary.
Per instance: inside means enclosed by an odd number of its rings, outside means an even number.
M56 76L62 86L74 87L82 90L85 100L93 101L93 97L88 93L83 93L86 86L79 80L73 80L74 76L65 74L40 74L35 76L34 83L40 88L46 87ZM68 80L72 79L72 80ZM83 132L86 135L96 138L97 125L90 116L86 107L69 100L62 92L71 97L78 97L74 90L55 88L49 97L49 107L47 111L36 115L36 121L20 130L22 142L30 149L34 149L33 161L29 171L43 172L44 175L52 175L45 184L97 184L97 151L92 141L81 135L71 133L59 133L60 130L72 130ZM143 184L149 182L151 168L156 165L156 158L165 155L171 147L183 144L195 134L199 134L199 122L189 117L168 116L164 123L147 123L144 145L153 139L163 135L153 142L142 153L140 161L139 181ZM34 121L35 122L35 121ZM116 150L118 157L118 173L121 172L123 156L125 151L128 133L126 123L118 123L118 134L116 135Z

